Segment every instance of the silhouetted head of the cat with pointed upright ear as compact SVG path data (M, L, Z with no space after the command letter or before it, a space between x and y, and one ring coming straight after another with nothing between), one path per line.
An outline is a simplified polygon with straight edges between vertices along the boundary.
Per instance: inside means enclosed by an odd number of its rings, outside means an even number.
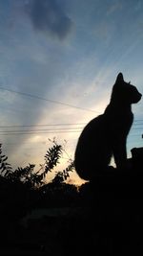
M119 73L116 81L112 87L113 103L120 103L120 105L132 105L141 100L141 93L130 82L124 81L123 74Z

